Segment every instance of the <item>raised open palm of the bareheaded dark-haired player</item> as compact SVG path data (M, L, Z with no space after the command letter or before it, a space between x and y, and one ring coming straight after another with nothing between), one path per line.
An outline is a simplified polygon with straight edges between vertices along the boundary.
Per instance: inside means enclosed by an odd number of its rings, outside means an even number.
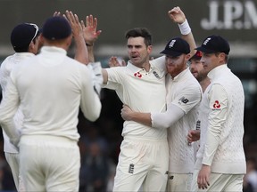
M94 18L93 15L86 17L86 26L83 20L80 21L84 39L87 45L92 46L97 40L98 36L102 33L102 30L97 30L97 18Z

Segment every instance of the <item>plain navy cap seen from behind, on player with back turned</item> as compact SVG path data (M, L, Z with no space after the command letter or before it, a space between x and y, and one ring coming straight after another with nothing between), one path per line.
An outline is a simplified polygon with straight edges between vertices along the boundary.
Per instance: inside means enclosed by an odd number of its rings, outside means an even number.
M63 17L51 17L42 28L42 35L49 40L64 39L71 34L70 23Z

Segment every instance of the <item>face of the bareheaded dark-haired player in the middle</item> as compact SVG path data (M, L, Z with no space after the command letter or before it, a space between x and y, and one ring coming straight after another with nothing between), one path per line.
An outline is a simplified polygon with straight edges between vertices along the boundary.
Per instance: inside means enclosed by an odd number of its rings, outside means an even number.
M137 36L129 37L127 47L131 63L138 68L144 68L145 64L149 61L152 45L146 46L144 38Z

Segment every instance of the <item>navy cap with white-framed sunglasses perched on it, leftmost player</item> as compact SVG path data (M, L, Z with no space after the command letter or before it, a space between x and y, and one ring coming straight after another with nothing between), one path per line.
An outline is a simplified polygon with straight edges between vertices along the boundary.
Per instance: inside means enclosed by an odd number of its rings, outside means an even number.
M30 42L40 33L34 23L21 23L12 29L11 44L14 49L29 47Z

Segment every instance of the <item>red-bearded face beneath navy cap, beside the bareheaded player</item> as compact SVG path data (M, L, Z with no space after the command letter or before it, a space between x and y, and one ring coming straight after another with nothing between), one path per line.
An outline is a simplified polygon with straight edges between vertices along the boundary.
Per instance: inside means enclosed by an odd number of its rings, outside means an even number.
M190 54L181 54L176 57L166 55L166 68L172 78L178 76L179 73L187 68L187 60L189 59L189 57Z

